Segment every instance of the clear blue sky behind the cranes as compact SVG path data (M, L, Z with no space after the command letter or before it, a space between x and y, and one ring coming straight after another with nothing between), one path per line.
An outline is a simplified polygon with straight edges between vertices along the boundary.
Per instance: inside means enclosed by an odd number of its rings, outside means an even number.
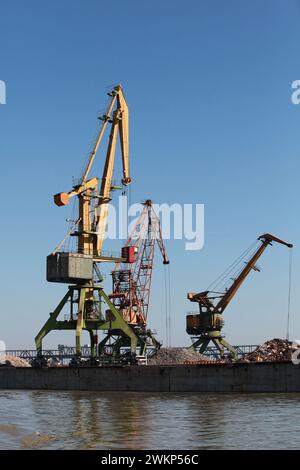
M105 92L118 82L130 107L132 201L205 204L203 250L167 244L173 344L189 344L186 293L206 288L266 231L296 245L291 336L300 338L300 105L290 99L300 79L300 1L2 0L0 8L7 346L33 346L64 292L45 280L68 215L52 195L80 173ZM270 248L259 265L225 314L235 344L285 335L288 250ZM156 268L151 325L164 338L158 257ZM45 345L72 341L52 335Z

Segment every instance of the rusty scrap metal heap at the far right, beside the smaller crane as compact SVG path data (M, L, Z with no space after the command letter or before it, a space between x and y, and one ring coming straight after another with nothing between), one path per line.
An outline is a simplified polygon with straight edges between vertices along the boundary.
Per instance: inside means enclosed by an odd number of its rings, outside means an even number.
M278 362L290 361L292 353L299 348L297 343L285 339L274 338L258 346L247 354L242 362Z

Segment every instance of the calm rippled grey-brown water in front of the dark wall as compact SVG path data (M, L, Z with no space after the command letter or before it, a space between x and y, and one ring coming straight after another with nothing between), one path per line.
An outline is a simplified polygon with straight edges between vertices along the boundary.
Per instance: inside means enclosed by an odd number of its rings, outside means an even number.
M0 391L1 449L297 449L300 394Z

